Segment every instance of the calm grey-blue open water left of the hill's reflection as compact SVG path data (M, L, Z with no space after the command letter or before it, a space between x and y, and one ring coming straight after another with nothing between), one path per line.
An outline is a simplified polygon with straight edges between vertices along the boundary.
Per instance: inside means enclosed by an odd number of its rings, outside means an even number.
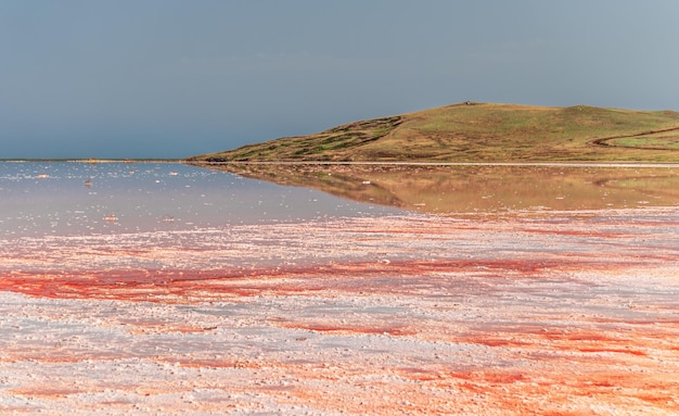
M400 212L175 163L0 163L0 237L192 229Z

